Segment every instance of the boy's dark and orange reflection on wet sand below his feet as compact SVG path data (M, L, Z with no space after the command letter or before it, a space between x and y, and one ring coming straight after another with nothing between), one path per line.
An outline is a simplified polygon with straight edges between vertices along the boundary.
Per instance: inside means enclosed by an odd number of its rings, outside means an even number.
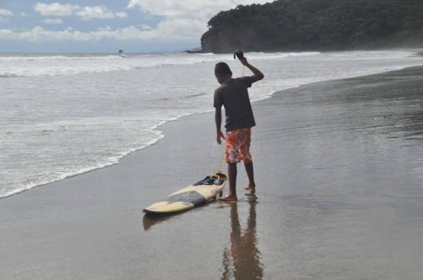
M221 279L262 279L264 267L257 248L256 203L250 203L247 229L241 230L238 203L231 204L230 248L223 250Z

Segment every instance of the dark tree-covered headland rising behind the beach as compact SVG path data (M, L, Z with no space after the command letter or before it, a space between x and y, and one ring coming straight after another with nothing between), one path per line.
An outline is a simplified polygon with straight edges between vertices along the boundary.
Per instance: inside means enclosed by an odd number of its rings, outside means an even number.
M222 11L205 52L376 49L423 45L423 0L278 0Z

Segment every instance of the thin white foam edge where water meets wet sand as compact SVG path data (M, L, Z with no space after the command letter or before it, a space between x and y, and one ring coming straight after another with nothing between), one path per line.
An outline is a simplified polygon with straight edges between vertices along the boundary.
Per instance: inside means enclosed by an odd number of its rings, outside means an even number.
M423 51L421 51L419 53L415 53L415 56L423 56ZM368 76L373 76L373 75L383 75L383 74L386 74L386 73L389 73L389 72L396 72L396 71L401 71L401 70L407 70L408 68L419 68L419 67L423 67L423 64L422 65L418 65L418 66L398 68L396 70L388 70L388 71L384 71L384 72L377 72L377 73L370 74L370 75L353 76L353 77L348 77L348 78L343 78L343 79L327 79L327 80L321 80L321 81L318 81L318 82L310 82L310 83L307 83L307 84L300 84L300 85L297 85L296 87L289 87L289 88L286 88L286 89L278 89L278 90L272 92L271 94L269 94L268 96L264 96L262 98L259 98L257 100L251 101L251 102L252 103L257 103L257 102L260 102L260 101L267 100L269 98L273 98L276 94L280 93L281 91L289 91L289 90L293 90L293 89L298 89L300 87L312 86L314 84L320 84L320 83L325 83L325 82L342 82L342 81L348 80L348 79L355 79L355 78L360 78L360 77L368 77ZM166 138L166 134L163 131L159 130L160 127L163 127L164 125L167 125L168 123L171 123L171 122L177 122L177 121L183 120L185 117L190 117L192 115L207 114L207 113L211 113L212 111L213 111L213 109L210 109L210 110L207 110L207 111L204 111L204 112L200 112L200 113L189 113L188 115L182 115L182 116L175 117L172 120L163 121L163 122L159 123L159 125L154 125L153 127L151 127L151 130L152 131L158 132L158 135L159 136L158 136L157 139L155 139L154 141L151 141L150 142L151 144L150 143L144 144L144 145L141 146L141 148L136 148L133 151L127 151L127 152L123 153L123 155L116 156L116 162L114 162L114 163L104 163L104 164L102 164L100 166L97 166L97 167L88 167L88 168L85 168L84 170L80 170L80 171L77 171L77 172L71 172L71 174L69 174L69 175L65 175L64 174L63 175L64 176L63 178L54 179L51 182L45 182L45 183L41 183L41 184L36 184L34 186L25 186L25 187L23 187L23 189L20 189L19 191L16 191L16 193L11 193L11 194L6 194L5 196L1 196L0 197L0 201L4 200L6 198L10 198L11 196L17 196L17 195L19 195L21 193L24 193L26 191L32 191L34 189L38 189L39 187L47 186L49 184L54 184L56 182L61 182L63 180L66 180L66 179L69 179L69 178L72 178L72 177L80 176L80 175L83 175L83 174L94 172L96 170L102 170L102 169L107 168L107 167L112 167L114 165L118 165L119 163L121 163L121 161L123 159L125 159L129 155L131 155L133 153L140 152L142 150L145 150L145 149L147 149L147 148L149 148L151 146L154 146L159 141L161 141L162 139Z

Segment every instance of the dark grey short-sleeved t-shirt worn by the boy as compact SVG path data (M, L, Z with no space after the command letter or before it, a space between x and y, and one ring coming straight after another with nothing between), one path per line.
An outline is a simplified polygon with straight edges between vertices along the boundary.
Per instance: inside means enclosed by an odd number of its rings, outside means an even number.
M214 91L214 107L225 107L226 132L255 126L247 90L251 84L250 77L229 79Z

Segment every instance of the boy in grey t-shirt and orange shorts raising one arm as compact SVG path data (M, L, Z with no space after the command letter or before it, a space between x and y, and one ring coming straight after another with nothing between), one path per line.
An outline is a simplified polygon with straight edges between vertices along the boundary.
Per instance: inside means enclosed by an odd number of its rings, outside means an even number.
M240 62L250 69L254 75L233 79L231 68L226 63L217 63L214 68L214 75L221 84L214 91L216 140L219 145L222 138L226 140L225 155L229 177L229 193L228 196L221 198L221 201L238 201L236 196L236 164L241 160L244 161L249 180L245 190L255 193L254 171L250 154L251 127L255 126L255 120L247 88L251 87L252 83L263 79L264 75L260 70L250 65L247 58L242 58ZM225 107L226 113L226 136L221 132L222 106Z

